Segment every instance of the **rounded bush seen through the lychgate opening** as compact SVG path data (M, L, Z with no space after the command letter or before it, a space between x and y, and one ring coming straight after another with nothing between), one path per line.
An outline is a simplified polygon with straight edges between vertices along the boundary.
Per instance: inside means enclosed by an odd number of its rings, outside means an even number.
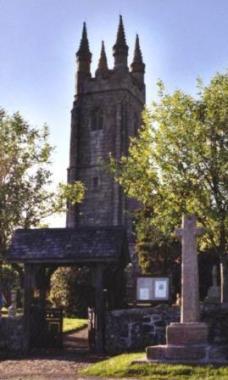
M91 302L88 268L58 268L51 277L50 300L67 315L87 316Z

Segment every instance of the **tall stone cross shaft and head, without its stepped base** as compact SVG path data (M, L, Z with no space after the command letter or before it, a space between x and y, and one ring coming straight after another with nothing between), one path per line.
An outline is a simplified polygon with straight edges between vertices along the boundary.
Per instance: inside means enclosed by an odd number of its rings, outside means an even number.
M182 240L181 323L198 322L200 318L196 236L203 231L196 227L194 215L183 215L182 228L176 229Z

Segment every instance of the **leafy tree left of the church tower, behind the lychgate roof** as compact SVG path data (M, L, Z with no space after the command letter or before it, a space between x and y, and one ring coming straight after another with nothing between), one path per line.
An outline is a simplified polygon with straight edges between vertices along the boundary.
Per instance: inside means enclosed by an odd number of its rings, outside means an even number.
M48 128L32 128L19 113L0 110L0 257L15 228L37 226L43 218L62 211L66 199L82 200L80 182L50 190Z

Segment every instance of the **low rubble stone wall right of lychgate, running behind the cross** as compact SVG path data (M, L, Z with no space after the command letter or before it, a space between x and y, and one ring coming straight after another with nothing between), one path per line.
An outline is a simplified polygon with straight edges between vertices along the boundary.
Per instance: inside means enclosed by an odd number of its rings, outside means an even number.
M110 311L106 314L106 351L120 353L165 344L166 326L179 320L179 307L166 304ZM202 304L201 320L208 324L209 344L228 346L228 305Z

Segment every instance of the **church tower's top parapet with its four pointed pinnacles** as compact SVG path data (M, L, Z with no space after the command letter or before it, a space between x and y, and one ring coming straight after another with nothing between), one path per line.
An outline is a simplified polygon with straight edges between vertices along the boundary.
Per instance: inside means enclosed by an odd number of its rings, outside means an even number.
M76 97L81 94L94 91L108 91L109 88L126 89L135 94L140 101L145 103L145 84L144 73L145 64L143 63L142 52L139 44L139 36L136 35L135 50L131 70L128 67L128 45L124 31L123 19L120 16L117 30L116 42L113 46L114 66L108 68L105 44L102 41L101 54L95 77L91 75L90 65L92 54L89 50L86 24L83 24L82 38L80 47L76 53L77 75L76 75Z

